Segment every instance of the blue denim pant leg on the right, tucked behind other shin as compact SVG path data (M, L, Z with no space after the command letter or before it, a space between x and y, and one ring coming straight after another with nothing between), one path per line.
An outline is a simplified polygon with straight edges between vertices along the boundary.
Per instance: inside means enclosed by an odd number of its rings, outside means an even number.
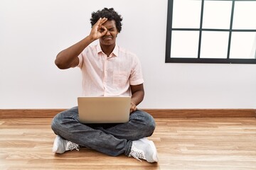
M139 140L153 134L156 124L154 118L144 111L134 111L129 116L129 122L115 125L111 128L97 127L103 132L114 135L118 139Z

